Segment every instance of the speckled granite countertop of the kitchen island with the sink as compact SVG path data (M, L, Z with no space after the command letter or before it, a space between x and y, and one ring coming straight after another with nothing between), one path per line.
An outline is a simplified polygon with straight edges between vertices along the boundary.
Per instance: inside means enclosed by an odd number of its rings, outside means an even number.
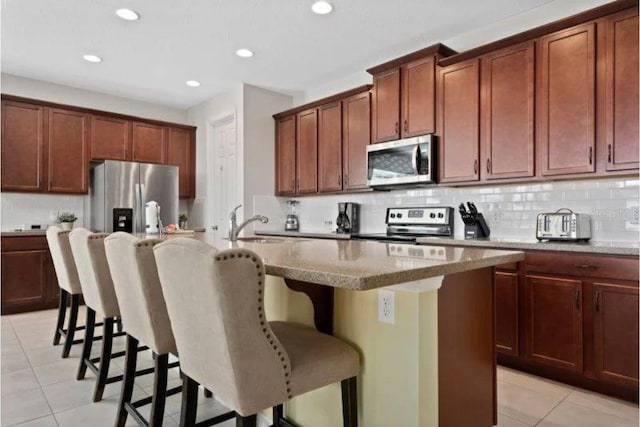
M167 236L177 238L179 236ZM263 260L267 274L286 279L353 290L368 290L435 276L524 260L524 252L438 247L354 240L267 239L272 243L213 240L195 234L219 249L247 248Z

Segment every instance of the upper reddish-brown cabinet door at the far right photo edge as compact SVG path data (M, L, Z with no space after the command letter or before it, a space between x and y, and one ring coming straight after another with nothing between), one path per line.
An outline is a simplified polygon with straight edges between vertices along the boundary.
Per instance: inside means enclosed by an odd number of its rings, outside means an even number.
M638 168L638 10L607 18L607 170Z

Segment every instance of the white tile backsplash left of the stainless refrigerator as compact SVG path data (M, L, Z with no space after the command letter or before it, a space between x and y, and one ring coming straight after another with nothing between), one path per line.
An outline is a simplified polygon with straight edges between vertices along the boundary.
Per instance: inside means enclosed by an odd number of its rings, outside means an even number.
M78 217L76 225L84 226L87 203L87 196L2 193L0 227L3 231L8 231L23 227L28 229L32 224L40 224L45 229L55 224L58 212L73 212Z

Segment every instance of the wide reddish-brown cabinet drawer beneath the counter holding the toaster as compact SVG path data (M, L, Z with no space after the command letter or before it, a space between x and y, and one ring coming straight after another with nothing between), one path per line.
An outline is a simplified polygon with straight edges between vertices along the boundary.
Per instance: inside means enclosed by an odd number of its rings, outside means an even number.
M558 252L527 252L527 273L638 281L638 259Z

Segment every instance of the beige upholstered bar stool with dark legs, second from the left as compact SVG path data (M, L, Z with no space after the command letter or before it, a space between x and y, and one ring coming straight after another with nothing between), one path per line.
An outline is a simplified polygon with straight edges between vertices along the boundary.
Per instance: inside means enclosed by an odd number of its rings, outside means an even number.
M77 379L84 378L87 368L97 376L93 401L102 400L107 384L122 380L122 375L109 377L111 358L124 356L124 352L112 354L113 325L116 316L120 315L118 300L113 288L111 273L104 250L104 239L107 234L92 233L85 228L76 228L69 234L71 251L78 269L78 277L82 286L82 295L87 305L87 322L84 346L78 367ZM103 319L102 352L99 358L91 358L93 331L96 313ZM96 366L99 363L99 366Z

